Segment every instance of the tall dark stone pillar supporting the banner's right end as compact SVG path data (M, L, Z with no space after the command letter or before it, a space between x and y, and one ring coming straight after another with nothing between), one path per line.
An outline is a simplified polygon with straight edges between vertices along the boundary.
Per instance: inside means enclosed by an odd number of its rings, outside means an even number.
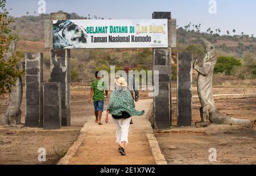
M171 19L171 12L154 12L153 19ZM171 48L153 49L154 74L159 72L159 94L153 98L155 129L171 127ZM156 80L154 79L154 82Z

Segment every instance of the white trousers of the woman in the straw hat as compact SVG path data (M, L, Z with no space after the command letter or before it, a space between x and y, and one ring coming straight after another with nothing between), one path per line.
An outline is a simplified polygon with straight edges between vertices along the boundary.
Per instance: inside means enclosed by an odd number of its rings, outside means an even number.
M125 144L127 145L131 118L128 118L128 119L114 119L113 118L113 121L115 123L116 134L117 134L116 142L119 145L121 145L122 142L125 142Z

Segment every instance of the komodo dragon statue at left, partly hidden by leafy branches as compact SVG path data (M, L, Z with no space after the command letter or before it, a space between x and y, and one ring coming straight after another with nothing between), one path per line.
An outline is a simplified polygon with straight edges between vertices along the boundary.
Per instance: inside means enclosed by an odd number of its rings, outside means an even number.
M12 55L15 55L16 50L16 41L11 41L9 52L5 54L5 60L9 60ZM16 65L19 69L24 69L24 63L19 63ZM20 106L22 103L22 77L19 76L16 78L16 85L12 87L11 93L9 93L9 99L7 102L6 110L0 114L0 125L11 125L15 126L18 124L22 124L20 122L21 119L21 110Z

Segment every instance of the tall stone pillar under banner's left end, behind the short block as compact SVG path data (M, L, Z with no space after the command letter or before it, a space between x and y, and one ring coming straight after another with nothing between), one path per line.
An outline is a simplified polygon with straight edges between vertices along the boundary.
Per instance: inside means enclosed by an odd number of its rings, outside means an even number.
M68 127L71 125L71 63L69 49L51 49L51 82L61 83L61 123Z

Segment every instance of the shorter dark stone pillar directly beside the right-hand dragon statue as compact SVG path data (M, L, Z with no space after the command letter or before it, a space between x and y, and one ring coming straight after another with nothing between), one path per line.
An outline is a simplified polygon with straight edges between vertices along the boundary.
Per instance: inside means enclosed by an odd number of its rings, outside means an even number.
M192 53L179 52L177 60L177 126L192 124Z

